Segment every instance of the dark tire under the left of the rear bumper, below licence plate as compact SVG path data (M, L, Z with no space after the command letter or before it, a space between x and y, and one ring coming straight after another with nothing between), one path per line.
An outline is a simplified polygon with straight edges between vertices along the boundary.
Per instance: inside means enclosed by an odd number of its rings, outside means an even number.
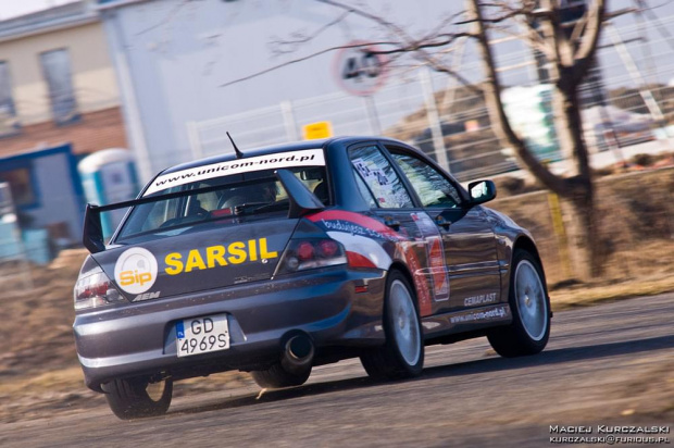
M112 412L122 420L163 415L171 406L173 381L150 383L147 378L113 379L101 386Z

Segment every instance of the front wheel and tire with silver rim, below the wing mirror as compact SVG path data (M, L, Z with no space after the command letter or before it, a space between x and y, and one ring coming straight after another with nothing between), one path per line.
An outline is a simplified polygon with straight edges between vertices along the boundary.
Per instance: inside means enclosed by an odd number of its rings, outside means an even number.
M550 299L544 278L538 259L525 250L515 250L508 295L513 321L487 335L489 344L500 356L536 354L548 344Z

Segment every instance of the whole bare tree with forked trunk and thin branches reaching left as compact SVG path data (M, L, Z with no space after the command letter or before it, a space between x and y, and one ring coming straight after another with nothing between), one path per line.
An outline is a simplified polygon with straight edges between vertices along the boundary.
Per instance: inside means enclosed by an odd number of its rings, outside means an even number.
M513 148L520 164L546 188L559 195L569 206L567 210L572 213L572 221L575 224L572 231L576 236L577 249L582 258L579 260L582 272L578 274L583 277L601 274L599 220L588 148L583 136L578 90L592 65L602 24L607 20L606 0L588 0L589 4L585 14L571 28L562 23L562 0L465 0L465 11L441 18L437 26L422 36L412 36L403 26L369 11L366 7L354 7L339 0L315 1L340 10L340 15L315 33L294 34L287 39L272 42L271 48L276 48L279 54L287 53L288 49L290 52L295 51L327 27L345 21L348 16L359 16L378 25L386 37L386 39L359 43L359 46L377 43L385 48L377 52L390 55L392 62L403 55L411 57L419 64L453 76L473 90L482 90L491 124L501 145ZM465 18L458 22L460 15ZM520 23L520 29L526 29L525 35L521 37L547 60L549 75L547 82L552 88L557 136L562 153L566 160L571 161L571 170L565 177L552 173L536 158L523 137L513 129L501 101L502 86L489 43L489 34L494 30L513 33L514 28L508 25L512 21ZM467 32L457 32L459 25L470 25L472 28ZM474 39L480 52L485 80L479 85L465 79L444 58L460 38ZM339 48L344 47L334 47L290 60L264 72L226 83L224 86Z

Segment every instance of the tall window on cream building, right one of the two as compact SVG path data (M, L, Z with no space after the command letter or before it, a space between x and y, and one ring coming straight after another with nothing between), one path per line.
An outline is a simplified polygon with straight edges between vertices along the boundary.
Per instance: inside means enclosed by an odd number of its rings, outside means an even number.
M71 59L66 49L46 51L40 54L42 73L49 87L51 113L57 124L67 124L79 119Z

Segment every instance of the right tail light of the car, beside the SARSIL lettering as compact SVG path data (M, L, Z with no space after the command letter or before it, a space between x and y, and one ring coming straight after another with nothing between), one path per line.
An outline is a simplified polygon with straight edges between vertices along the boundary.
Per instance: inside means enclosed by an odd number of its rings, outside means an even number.
M278 263L276 275L346 263L344 247L334 239L292 239Z

